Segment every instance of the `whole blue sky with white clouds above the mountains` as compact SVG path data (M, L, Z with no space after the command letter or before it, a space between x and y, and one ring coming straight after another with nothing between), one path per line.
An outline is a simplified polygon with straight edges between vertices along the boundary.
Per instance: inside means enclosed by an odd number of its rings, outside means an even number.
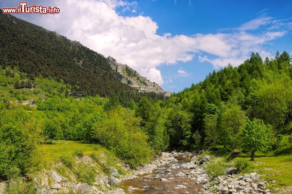
M74 2L74 3L72 3ZM128 64L164 90L181 91L251 52L292 55L292 1L28 1L58 15L15 14ZM0 7L16 7L2 1Z

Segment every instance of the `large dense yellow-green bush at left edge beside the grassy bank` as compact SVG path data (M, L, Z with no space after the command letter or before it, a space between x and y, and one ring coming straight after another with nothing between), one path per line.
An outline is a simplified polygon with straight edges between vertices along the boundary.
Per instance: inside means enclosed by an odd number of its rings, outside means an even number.
M23 109L0 114L0 179L24 175L37 167L40 125Z

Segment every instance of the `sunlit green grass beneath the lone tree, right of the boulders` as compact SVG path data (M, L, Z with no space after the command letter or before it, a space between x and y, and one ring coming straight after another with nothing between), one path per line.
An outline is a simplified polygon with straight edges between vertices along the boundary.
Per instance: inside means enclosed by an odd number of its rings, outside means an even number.
M259 174L264 174L263 178L267 181L276 180L276 185L271 187L285 188L287 186L292 186L292 154L290 155L275 155L263 154L260 152L255 153L255 161L264 163L253 163L250 161L249 154L241 154L244 160L250 162L251 165L255 167ZM238 159L238 158L236 158ZM264 168L270 168L272 170L264 170ZM275 174L269 176L270 174Z

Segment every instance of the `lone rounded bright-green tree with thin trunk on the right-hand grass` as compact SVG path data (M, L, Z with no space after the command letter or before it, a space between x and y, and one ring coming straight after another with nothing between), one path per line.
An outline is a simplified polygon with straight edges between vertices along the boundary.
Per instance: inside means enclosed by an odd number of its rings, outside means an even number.
M269 147L271 126L265 125L263 120L254 118L253 121L246 120L242 129L241 147L251 153L254 160L256 151L263 151Z

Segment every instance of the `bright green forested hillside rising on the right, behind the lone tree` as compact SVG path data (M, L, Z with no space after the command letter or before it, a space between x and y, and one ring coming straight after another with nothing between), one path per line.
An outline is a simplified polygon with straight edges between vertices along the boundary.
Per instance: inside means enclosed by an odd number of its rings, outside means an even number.
M291 76L291 58L286 51L265 61L252 53L239 67L229 64L213 71L204 81L169 99L167 106L173 107L174 115L185 120L181 116L185 113L191 125L172 130L171 145L203 143L214 148L223 145L232 151L240 147L247 116L271 126L270 146L287 146L291 141L287 135L292 132Z

